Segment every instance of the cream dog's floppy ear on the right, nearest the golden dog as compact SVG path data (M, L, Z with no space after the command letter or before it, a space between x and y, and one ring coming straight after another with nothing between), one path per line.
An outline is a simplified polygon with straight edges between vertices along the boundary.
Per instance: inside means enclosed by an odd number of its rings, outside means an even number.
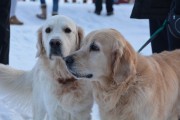
M77 26L77 37L76 37L76 45L77 48L76 50L78 50L80 48L80 44L82 39L84 38L84 31L81 27Z

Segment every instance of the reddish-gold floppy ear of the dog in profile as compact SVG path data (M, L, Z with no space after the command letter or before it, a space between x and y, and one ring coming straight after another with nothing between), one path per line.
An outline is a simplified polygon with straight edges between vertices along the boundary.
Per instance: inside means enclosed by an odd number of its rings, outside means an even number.
M116 84L120 84L136 73L136 53L127 41L124 40L124 43L122 46L117 40L112 50L112 75Z

